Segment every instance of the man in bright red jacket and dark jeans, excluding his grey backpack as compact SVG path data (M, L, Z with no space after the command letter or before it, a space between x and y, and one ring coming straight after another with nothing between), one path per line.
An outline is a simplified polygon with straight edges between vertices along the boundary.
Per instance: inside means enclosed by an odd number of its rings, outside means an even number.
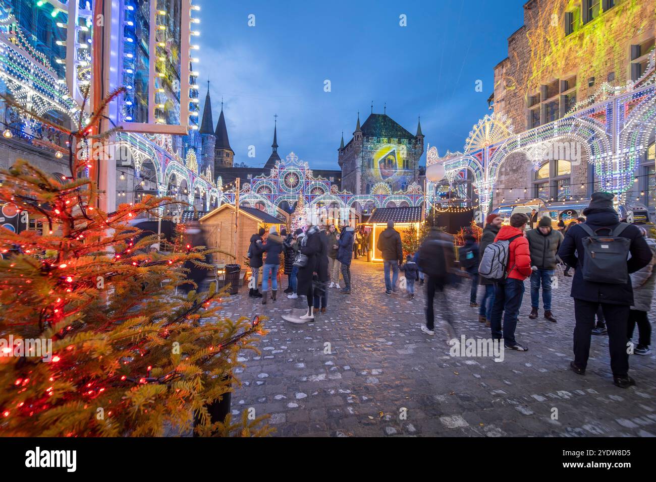
M524 228L529 221L528 216L517 212L510 216L510 226L501 226L496 241L510 239L508 246L508 276L503 281L495 283L495 299L492 307L490 325L492 338L501 340L508 350L528 351L525 346L515 340L517 315L520 313L524 294L524 280L531 275L531 251L529 241L524 235ZM501 331L501 314L503 317L503 332Z

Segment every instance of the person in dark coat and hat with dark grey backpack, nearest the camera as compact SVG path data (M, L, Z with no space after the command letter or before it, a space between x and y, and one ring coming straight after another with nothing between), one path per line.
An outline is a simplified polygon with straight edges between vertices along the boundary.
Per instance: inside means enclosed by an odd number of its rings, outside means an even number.
M571 289L576 319L574 360L569 367L577 374L585 374L594 315L601 306L608 331L613 383L628 388L636 384L628 376L626 350L628 316L634 302L629 273L647 266L652 253L637 226L619 222L613 197L607 192L592 194L590 205L583 211L586 222L567 231L558 256L575 266Z

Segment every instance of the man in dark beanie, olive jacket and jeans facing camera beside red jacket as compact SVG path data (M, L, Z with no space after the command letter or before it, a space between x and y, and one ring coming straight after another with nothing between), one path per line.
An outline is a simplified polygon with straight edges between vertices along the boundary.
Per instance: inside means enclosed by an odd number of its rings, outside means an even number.
M563 242L563 235L551 226L551 218L544 216L537 228L526 233L531 252L531 314L530 319L537 318L540 304L540 285L542 285L542 302L544 306L544 319L556 323L551 312L551 289L554 273L559 258L558 249Z

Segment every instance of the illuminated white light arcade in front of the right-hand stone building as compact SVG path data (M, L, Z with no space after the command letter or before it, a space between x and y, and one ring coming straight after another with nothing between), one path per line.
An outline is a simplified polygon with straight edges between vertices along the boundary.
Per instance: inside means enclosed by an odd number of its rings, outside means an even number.
M654 62L653 52L650 62ZM470 171L472 186L486 215L499 169L509 155L522 152L535 167L544 162L546 149L559 142L574 141L583 146L588 163L594 166L600 189L616 193L621 199L621 195L634 185L636 169L655 129L655 83L656 73L652 70L634 84L634 90L630 92L618 93L589 108L519 134L512 132L506 119L486 115L470 132L464 153L447 153L440 157L432 147L428 150L426 162L428 165L443 163L449 181L462 169ZM503 136L502 132L506 135ZM575 197L574 186L557 187L563 191L565 199ZM525 192L527 187L523 189ZM433 190L434 186L428 182L427 193ZM512 195L512 188L506 191ZM515 198L512 196L511 199ZM504 197L502 202L505 200Z

